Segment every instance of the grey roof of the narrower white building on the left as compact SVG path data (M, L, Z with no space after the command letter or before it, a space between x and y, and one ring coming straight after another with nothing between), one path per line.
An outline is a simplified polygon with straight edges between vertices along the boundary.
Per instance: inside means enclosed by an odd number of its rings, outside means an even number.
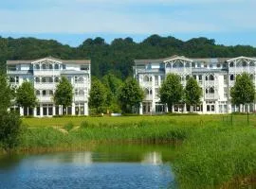
M61 61L63 63L74 63L74 64L90 64L91 60L60 60L60 59L55 59L53 57L46 57L43 59L38 59L38 60L44 60L44 59L49 59L49 60L57 60L57 61ZM7 64L11 65L11 64L30 64L33 61L37 61L37 60L7 60Z

